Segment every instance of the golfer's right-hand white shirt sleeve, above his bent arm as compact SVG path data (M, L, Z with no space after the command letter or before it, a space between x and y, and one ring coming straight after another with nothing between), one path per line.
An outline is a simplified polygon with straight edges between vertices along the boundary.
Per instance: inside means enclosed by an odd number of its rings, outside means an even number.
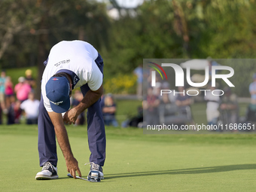
M92 71L88 75L87 81L90 90L99 90L99 87L102 86L102 78L102 72L100 72L99 67L94 62L92 65Z

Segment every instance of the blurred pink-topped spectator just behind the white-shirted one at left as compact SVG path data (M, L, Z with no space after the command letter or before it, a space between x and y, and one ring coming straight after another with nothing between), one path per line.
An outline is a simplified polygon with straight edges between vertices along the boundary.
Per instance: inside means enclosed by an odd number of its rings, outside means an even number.
M18 79L19 83L15 85L14 91L16 93L17 99L20 102L25 101L29 97L29 92L31 91L30 85L26 82L24 77Z

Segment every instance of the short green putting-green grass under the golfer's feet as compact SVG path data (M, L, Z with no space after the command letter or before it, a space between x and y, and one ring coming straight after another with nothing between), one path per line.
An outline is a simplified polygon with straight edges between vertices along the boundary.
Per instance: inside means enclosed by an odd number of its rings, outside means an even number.
M83 126L67 127L84 177L90 151ZM143 135L135 128L106 127L105 179L100 183L66 176L58 147L59 178L36 181L37 127L0 126L1 191L255 191L256 136Z

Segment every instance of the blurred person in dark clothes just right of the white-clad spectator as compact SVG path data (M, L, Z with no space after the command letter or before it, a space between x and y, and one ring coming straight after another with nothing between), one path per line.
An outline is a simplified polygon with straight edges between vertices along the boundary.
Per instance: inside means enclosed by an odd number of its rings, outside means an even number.
M230 87L224 88L224 96L220 105L221 118L224 124L238 123L239 108L236 94L232 93Z

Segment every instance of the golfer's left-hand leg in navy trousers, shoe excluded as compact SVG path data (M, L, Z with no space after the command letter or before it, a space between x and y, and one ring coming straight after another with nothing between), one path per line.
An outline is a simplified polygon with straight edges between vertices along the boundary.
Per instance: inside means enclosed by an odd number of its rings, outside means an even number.
M38 153L40 166L50 162L53 166L57 165L55 130L50 117L44 108L44 101L41 96L38 114Z

